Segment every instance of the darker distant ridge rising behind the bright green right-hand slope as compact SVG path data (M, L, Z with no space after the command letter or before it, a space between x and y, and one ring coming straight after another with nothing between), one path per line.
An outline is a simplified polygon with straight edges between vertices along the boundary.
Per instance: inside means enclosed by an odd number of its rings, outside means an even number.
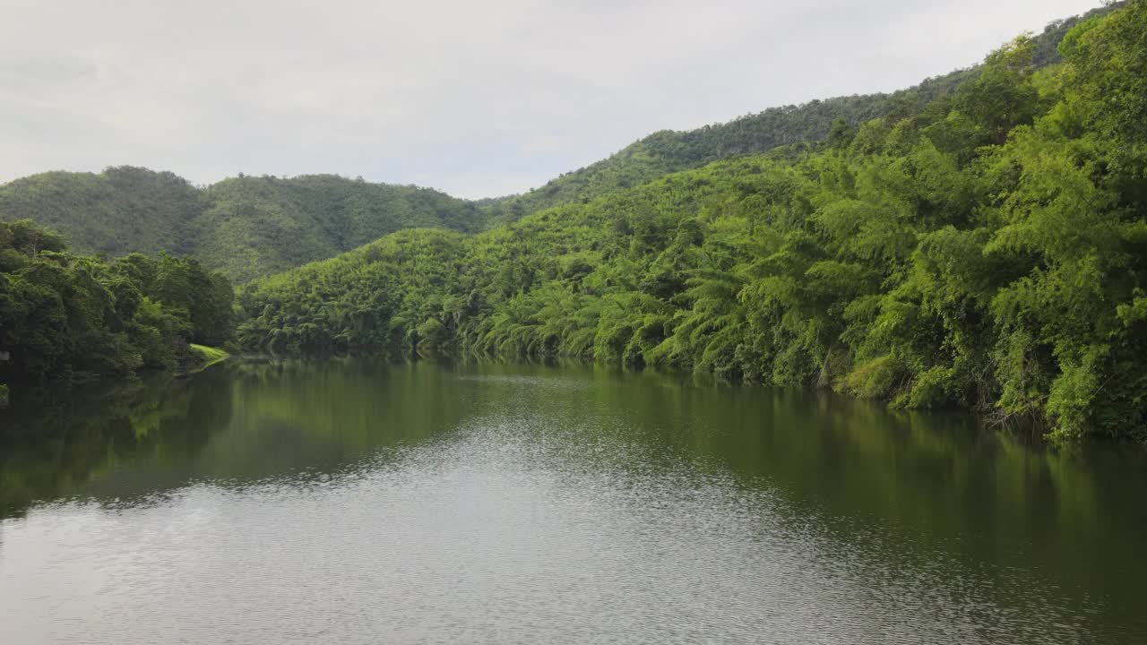
M1033 37L1031 63L1043 68L1060 62L1056 45L1080 21L1106 15L1125 2L1093 9L1048 24ZM957 70L929 78L914 87L891 94L837 96L801 106L770 108L728 123L686 132L661 131L631 143L612 156L562 174L540 188L492 201L492 222L514 222L525 215L571 201L586 201L610 191L639 186L669 172L700 168L718 160L759 154L780 146L822 141L833 123L843 119L857 125L876 117L903 118L934 100L951 94L978 68Z

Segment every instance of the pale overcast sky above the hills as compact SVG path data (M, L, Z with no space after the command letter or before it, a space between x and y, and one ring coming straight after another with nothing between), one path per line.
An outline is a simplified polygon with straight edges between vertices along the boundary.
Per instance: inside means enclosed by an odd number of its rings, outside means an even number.
M0 181L520 193L651 132L888 92L1100 0L0 0Z

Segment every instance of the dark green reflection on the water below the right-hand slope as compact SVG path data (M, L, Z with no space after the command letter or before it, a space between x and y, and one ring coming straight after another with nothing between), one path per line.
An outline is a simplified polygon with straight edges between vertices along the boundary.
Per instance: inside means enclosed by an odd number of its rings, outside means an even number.
M565 450L591 467L677 476L686 465L699 487L732 477L775 494L791 524L782 528L819 526L834 549L910 570L950 566L939 554L961 562L952 570L980 567L1000 606L1051 589L1077 593L1080 606L1113 586L1131 598L1147 575L1141 451L1055 450L967 414L896 413L822 393L695 387L655 373L592 380L515 395L516 407L582 428L580 448ZM1016 589L1030 578L1008 570L1038 572L1048 586Z

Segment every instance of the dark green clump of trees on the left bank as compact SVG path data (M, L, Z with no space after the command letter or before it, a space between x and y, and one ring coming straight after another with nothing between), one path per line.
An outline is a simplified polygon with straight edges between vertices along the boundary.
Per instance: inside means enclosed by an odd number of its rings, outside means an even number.
M198 261L68 251L29 220L0 222L0 380L46 381L188 368L189 343L234 333L234 292Z

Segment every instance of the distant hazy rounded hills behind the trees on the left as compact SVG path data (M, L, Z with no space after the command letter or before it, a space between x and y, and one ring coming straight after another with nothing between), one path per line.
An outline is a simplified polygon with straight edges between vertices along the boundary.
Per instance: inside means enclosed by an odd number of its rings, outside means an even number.
M484 226L470 202L320 174L237 177L196 188L171 172L46 172L0 186L0 219L32 219L81 252L167 250L236 282L331 257L400 228Z

